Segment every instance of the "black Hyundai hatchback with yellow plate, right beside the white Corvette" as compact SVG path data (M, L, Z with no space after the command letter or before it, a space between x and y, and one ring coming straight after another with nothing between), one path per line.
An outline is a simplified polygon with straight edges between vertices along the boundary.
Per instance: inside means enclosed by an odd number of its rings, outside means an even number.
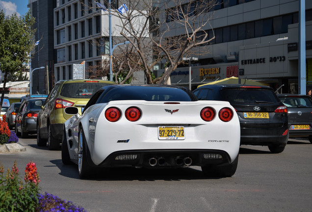
M287 107L269 86L243 84L204 85L193 93L199 100L228 101L240 122L240 144L268 146L284 151L289 133Z

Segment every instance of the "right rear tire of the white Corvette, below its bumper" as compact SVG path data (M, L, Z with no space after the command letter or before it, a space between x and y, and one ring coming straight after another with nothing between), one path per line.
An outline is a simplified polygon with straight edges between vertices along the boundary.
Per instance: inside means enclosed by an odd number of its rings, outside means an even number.
M231 177L235 174L238 164L238 155L236 159L227 165L202 166L202 171L208 177Z

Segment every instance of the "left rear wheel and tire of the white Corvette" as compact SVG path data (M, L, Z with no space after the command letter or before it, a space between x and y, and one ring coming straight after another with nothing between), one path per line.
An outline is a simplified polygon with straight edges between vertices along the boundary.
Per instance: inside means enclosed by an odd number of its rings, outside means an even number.
M78 172L82 179L89 178L92 173L92 168L87 161L87 145L82 129L79 130L78 134Z

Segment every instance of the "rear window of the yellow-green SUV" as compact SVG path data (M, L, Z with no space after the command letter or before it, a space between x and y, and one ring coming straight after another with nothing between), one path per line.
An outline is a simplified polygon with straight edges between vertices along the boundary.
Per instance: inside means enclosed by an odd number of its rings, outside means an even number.
M90 99L101 87L108 85L101 82L64 83L60 95L68 98Z

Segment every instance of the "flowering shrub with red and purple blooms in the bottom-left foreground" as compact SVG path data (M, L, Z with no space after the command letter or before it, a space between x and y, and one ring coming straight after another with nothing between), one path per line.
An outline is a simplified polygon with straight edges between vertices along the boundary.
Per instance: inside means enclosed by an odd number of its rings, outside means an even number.
M23 184L19 180L16 161L12 170L3 176L3 165L0 164L0 212L86 212L72 202L60 199L49 193L39 193L39 175L36 164L27 163Z

